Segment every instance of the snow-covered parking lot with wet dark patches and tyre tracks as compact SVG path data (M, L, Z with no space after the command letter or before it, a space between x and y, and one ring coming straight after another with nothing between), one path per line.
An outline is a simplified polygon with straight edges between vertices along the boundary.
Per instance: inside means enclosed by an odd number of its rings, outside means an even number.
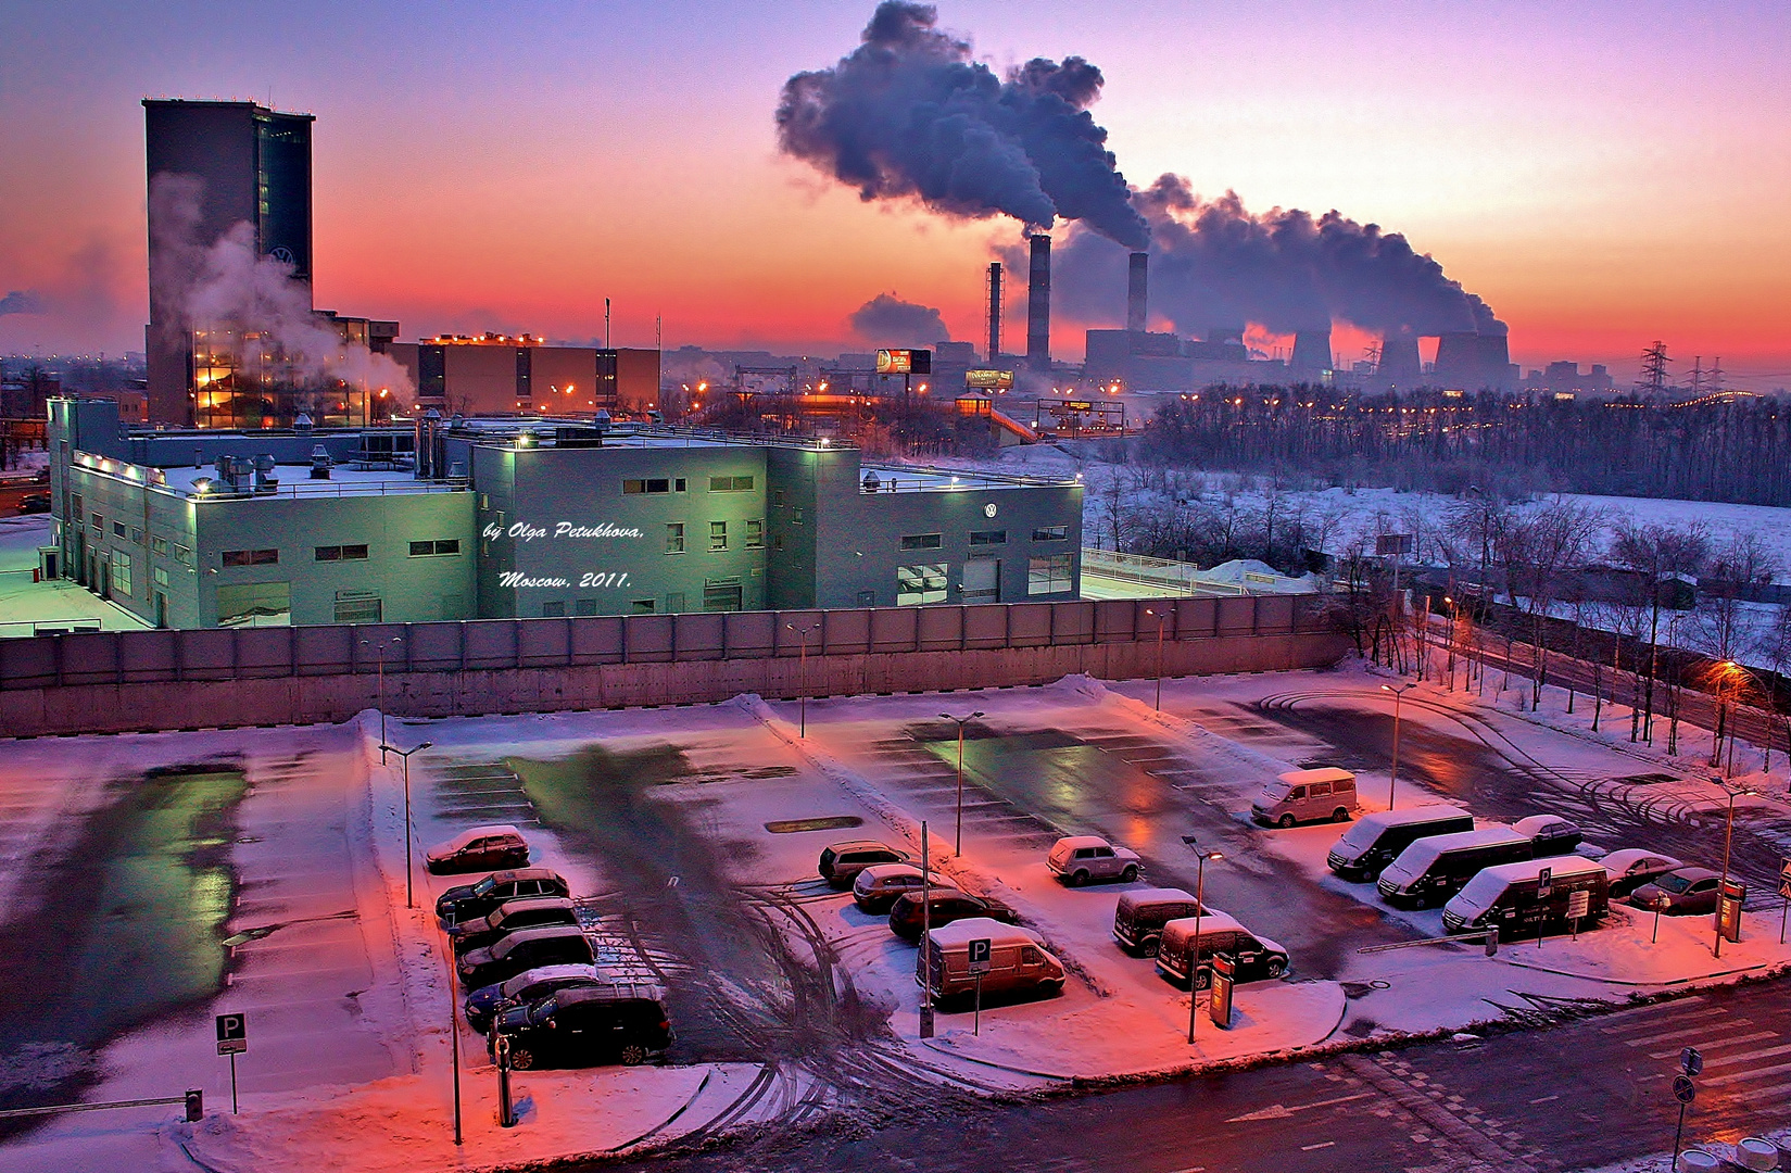
M1379 682L1359 668L1168 681L1161 713L1152 682L1087 679L829 698L808 704L806 736L795 702L756 697L389 720L392 745L432 743L410 765L416 845L476 824L521 827L536 860L571 883L598 963L663 985L677 1032L663 1064L518 1073L521 1123L503 1130L484 1039L460 1023L464 1162L602 1153L829 1110L874 1117L917 1092L981 1096L1528 1024L1791 960L1773 888L1787 838L1778 799L1737 806L1732 863L1750 901L1743 940L1721 958L1709 917L1666 917L1655 942L1650 915L1617 906L1578 940L1504 944L1494 958L1478 944L1384 949L1442 935L1440 913L1390 910L1372 885L1331 876L1324 858L1341 827L1247 818L1264 781L1307 765L1350 768L1363 806L1386 804L1392 706ZM1556 813L1585 827L1594 852L1655 847L1719 861L1727 795L1689 758L1610 738L1626 718L1594 736L1583 715L1549 704L1517 715L1495 697L1410 693L1397 802L1447 799L1494 822ZM946 716L973 713L960 854L956 723ZM1698 750L1691 740L1682 749ZM32 869L73 876L86 861L111 876L90 885L93 908L118 912L75 917L70 933L136 942L141 933L116 931L133 912L115 886L141 881L143 867L113 860L141 861L143 843L170 833L138 811L141 795L168 786L156 809L186 811L177 831L192 847L150 886L167 904L215 906L140 955L143 972L179 974L168 978L177 996L95 989L104 1005L129 1001L106 1030L57 1014L38 1015L41 1030L20 1019L0 1033L13 1069L38 1073L16 1082L11 1103L204 1087L208 1119L168 1123L177 1107L61 1117L0 1146L0 1169L453 1159L448 951L432 910L460 878L417 867L407 908L403 774L398 758L380 763L374 715L328 729L23 741L9 747L0 786L13 811L4 913L14 929L41 908ZM817 856L851 838L917 854L922 822L944 879L1010 904L1064 962L1060 997L990 999L980 1019L955 1008L938 1015L937 1037L919 1037L915 947L827 888ZM1216 851L1207 903L1282 944L1291 972L1239 985L1230 1030L1207 1019L1202 994L1189 1044L1187 990L1110 938L1128 885L1060 885L1044 867L1058 835L1137 851L1144 874L1130 886L1193 890L1191 843ZM170 895L174 881L186 888ZM59 956L72 967L79 955ZM231 1116L211 1015L236 1010L249 1015L251 1049L238 1066L244 1110ZM369 1144L371 1134L389 1139Z

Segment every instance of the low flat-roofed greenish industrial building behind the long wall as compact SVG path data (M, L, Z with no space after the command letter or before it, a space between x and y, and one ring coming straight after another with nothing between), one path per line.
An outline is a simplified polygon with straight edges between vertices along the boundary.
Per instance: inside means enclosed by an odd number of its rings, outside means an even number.
M50 401L41 569L159 627L1078 596L1082 484L544 417L129 430Z

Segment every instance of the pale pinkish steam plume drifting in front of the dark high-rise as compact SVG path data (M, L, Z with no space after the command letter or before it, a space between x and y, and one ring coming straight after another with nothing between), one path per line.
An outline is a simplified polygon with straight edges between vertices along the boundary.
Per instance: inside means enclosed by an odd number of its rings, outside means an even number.
M149 184L156 204L159 263L149 279L159 304L174 306L184 330L229 331L236 358L247 335L260 335L258 355L278 355L299 383L390 389L401 401L414 394L408 372L362 344L347 344L312 312L308 290L292 279L292 265L260 256L254 226L240 222L217 242L197 242L201 188L195 176L159 174ZM251 364L253 365L253 364Z

